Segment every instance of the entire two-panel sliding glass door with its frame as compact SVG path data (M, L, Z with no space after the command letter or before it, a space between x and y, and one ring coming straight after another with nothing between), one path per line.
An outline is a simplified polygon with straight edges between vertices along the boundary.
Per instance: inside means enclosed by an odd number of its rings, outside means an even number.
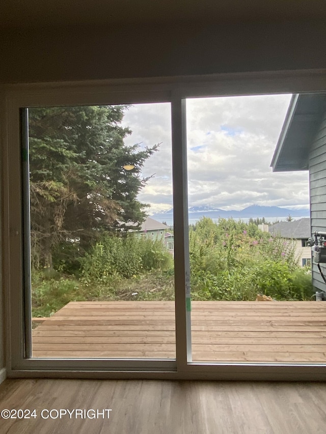
M208 97L221 86L9 92L13 372L267 379L324 362L309 261L269 231L309 204L307 173L269 169L291 97Z

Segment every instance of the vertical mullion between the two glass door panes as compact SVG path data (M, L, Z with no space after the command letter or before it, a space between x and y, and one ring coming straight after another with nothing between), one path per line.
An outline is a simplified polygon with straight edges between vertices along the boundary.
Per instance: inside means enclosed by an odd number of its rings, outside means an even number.
M172 172L175 257L176 357L178 371L192 361L188 238L186 100L172 95Z

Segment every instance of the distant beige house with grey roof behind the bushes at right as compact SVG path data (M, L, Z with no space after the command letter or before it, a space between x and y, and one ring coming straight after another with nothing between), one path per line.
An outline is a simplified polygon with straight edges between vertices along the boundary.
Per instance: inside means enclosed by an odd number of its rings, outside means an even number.
M295 247L295 257L298 258L298 265L301 267L311 265L311 248L307 247L307 241L310 237L310 218L280 221L269 226L268 232L292 241Z

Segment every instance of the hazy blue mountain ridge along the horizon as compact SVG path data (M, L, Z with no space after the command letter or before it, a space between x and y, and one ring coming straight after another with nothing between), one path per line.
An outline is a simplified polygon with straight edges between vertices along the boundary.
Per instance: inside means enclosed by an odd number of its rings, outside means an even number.
M218 218L270 218L270 217L287 217L288 215L292 217L310 217L309 210L289 210L287 208L280 207L263 207L260 205L251 205L250 207L244 208L241 211L225 211L215 207L203 206L203 207L189 207L188 217L189 219L199 219L201 217L210 217L211 219ZM155 220L164 220L167 218L172 218L173 209L161 213L152 215L151 217Z

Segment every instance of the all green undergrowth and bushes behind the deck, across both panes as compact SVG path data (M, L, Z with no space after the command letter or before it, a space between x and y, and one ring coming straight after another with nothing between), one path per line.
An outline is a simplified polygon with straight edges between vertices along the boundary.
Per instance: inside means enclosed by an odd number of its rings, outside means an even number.
M189 230L189 252L193 300L312 299L310 270L298 267L291 241L253 222L204 217ZM33 316L69 301L174 299L173 258L160 240L104 234L76 257L57 270L33 271Z

